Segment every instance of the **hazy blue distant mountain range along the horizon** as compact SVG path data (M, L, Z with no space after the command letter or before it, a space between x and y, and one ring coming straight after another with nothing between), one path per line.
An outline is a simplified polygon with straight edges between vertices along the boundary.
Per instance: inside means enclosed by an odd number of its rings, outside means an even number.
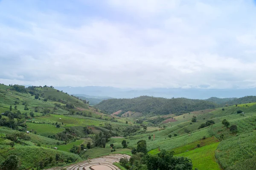
M151 88L145 90L134 90L131 88L114 88L102 86L85 86L85 87L55 87L69 94L86 94L88 96L96 96L102 98L134 98L138 96L154 96L154 97L185 97L188 99L209 99L210 97L218 98L239 98L243 96L256 95L256 88L248 89L206 89L206 88ZM81 95L80 95L81 96ZM84 96L86 97L86 96ZM95 97L87 97L95 98ZM229 100L229 99L227 99Z

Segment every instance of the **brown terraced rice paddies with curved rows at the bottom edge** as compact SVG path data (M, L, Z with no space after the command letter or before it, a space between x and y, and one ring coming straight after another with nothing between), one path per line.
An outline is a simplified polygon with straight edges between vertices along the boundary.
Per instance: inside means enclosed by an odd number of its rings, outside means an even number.
M108 156L82 161L67 167L56 167L49 170L61 170L62 168L66 168L67 170L120 170L118 167L113 165L113 163L119 162L121 158L130 159L131 156L124 154L111 154Z

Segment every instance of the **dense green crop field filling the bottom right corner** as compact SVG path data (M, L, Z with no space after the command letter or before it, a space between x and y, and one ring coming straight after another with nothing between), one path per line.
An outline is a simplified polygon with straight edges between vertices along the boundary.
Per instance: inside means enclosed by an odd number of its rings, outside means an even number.
M239 134L221 142L216 150L216 158L221 167L227 170L249 170L256 164L256 116L236 119L232 124L238 126ZM254 159L253 159L254 158ZM247 161L251 159L251 161ZM246 164L244 162L247 162ZM234 162L236 162L234 164Z

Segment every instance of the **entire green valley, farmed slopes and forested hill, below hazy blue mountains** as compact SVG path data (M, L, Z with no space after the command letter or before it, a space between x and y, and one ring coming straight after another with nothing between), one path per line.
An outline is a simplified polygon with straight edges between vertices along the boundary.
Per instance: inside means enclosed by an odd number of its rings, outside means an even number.
M125 155L109 167L146 170L145 160L174 151L192 170L255 169L255 98L219 101L141 96L90 106L54 87L0 84L0 168L85 170Z

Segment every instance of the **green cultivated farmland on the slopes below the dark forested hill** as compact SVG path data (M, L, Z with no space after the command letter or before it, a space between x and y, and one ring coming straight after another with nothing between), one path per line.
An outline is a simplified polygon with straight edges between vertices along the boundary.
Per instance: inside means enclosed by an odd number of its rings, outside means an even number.
M2 123L13 120L12 124L0 127L0 147L3 148L0 158L23 154L24 158L20 158L23 169L36 168L40 162L48 168L111 153L132 155L131 150L141 140L146 141L148 154L172 150L175 157L191 159L193 169L248 170L255 165L254 102L182 115L128 111L124 116L110 116L54 88L28 89L30 93L20 93L8 86L0 90L0 110L4 112L0 120ZM41 99L35 99L35 95ZM194 117L196 121L192 122ZM230 123L229 127L224 127L223 119ZM214 123L199 128L207 121ZM236 125L237 130L230 131L232 125ZM27 130L30 133L23 135ZM95 146L97 139L100 144L105 143ZM127 148L123 148L124 140ZM33 158L35 152L39 156ZM49 152L53 158L61 155L61 161L49 161ZM250 163L246 163L248 161Z

